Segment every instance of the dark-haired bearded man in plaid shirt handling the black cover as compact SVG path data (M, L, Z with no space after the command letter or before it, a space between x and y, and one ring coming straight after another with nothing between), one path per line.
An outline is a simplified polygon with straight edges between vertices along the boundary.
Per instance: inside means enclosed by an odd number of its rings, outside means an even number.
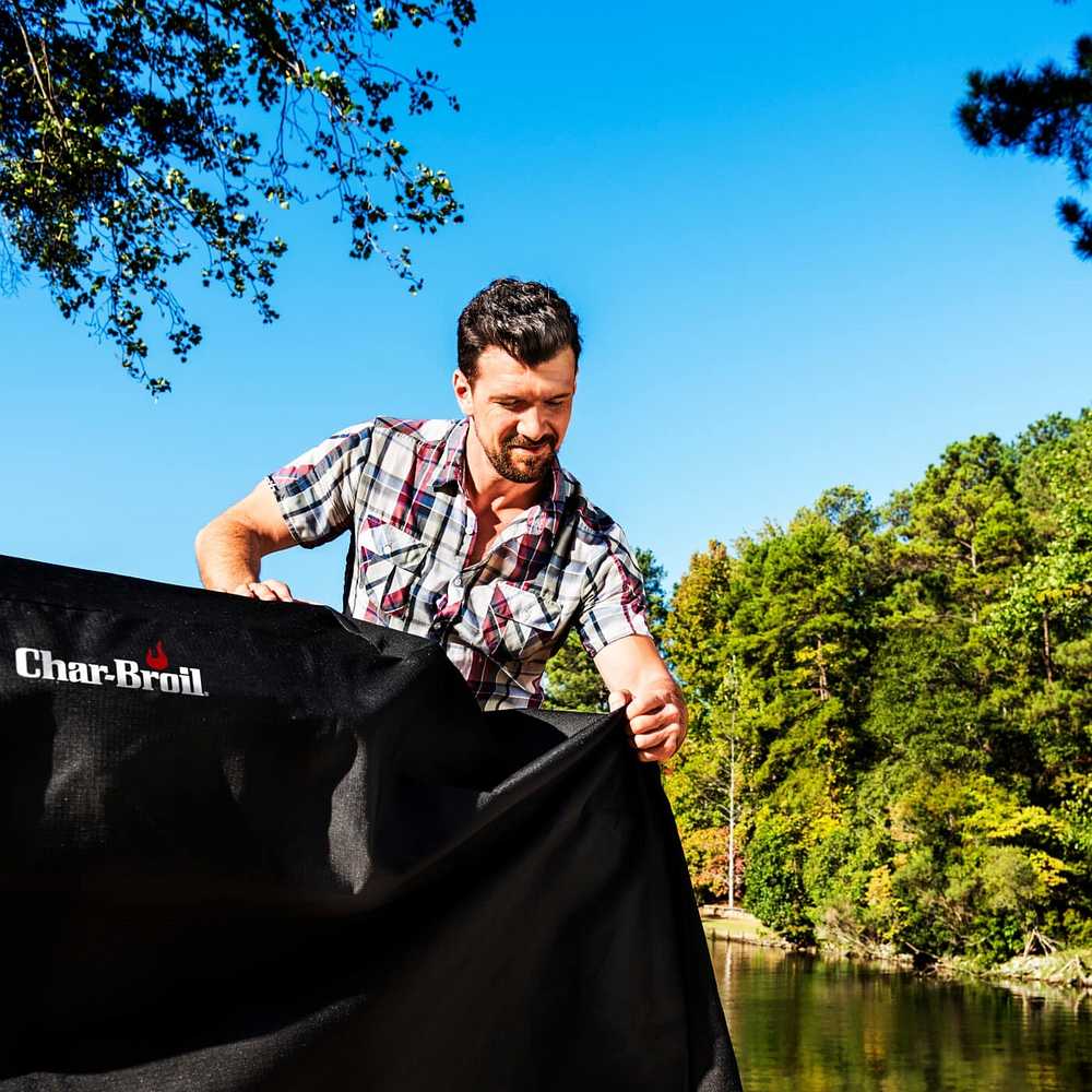
M580 347L554 289L495 281L459 319L465 417L376 417L306 451L199 532L204 585L290 602L261 559L348 530L354 617L438 641L484 709L539 705L546 661L575 626L641 760L669 758L686 708L649 636L640 570L557 459Z

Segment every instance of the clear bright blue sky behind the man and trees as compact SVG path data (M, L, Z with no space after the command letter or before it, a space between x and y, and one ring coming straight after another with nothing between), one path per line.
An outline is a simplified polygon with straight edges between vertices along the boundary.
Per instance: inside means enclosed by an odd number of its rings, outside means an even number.
M206 341L166 361L156 403L33 283L0 299L0 551L197 583L197 529L270 470L378 413L456 414L455 318L498 275L580 313L562 461L672 580L828 486L882 500L952 440L1092 403L1092 268L1054 223L1065 173L972 154L952 123L969 69L1066 59L1092 5L478 15L462 49L422 35L410 54L462 110L403 139L466 206L416 241L419 296L345 257L332 210L293 210L282 320L194 272L181 294ZM337 604L343 554L263 571Z

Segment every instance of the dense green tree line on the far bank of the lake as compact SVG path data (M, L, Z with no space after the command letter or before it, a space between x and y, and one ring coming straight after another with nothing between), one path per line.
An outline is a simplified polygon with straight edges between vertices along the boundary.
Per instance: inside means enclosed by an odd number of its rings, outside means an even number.
M1092 943L1092 410L952 443L881 506L828 489L670 596L641 563L691 713L664 784L700 898L926 961ZM547 682L603 708L573 636Z

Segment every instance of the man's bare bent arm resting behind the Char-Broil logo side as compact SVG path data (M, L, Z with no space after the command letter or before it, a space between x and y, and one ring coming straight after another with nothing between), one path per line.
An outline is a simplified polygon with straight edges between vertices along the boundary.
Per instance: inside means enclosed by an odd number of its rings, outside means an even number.
M289 603L287 584L261 580L260 575L266 554L287 549L295 542L269 483L259 482L242 500L198 532L193 548L201 583L217 592Z

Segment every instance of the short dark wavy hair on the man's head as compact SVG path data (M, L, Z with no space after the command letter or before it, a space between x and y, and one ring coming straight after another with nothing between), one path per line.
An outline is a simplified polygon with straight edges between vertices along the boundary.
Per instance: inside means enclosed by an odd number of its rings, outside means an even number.
M534 367L568 346L580 360L580 320L548 285L501 277L459 316L459 370L473 382L477 358L490 345Z

